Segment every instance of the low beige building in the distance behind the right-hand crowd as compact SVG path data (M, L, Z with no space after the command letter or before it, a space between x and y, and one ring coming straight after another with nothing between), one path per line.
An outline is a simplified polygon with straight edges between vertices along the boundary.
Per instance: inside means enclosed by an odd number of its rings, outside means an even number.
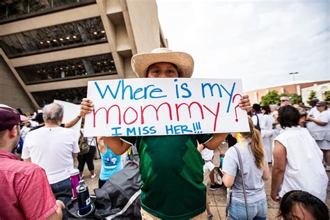
M297 95L302 95L302 89L308 88L311 86L317 86L322 84L330 83L329 80L327 81L309 81L309 82L297 82L296 84L288 84L288 85L281 85L281 86L272 86L269 88L261 88L255 91L246 92L247 95L250 97L251 104L253 103L260 103L261 97L267 95L270 91L277 91L278 94L291 94L297 93ZM309 94L308 94L309 95ZM304 99L303 99L304 102Z

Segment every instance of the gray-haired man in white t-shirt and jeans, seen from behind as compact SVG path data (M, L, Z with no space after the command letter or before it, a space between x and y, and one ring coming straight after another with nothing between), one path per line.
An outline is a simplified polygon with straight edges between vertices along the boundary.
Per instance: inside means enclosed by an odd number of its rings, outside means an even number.
M73 168L73 157L79 152L77 137L72 129L60 127L63 120L61 104L49 104L42 112L45 126L26 135L22 158L45 169L54 194L70 193L69 171Z

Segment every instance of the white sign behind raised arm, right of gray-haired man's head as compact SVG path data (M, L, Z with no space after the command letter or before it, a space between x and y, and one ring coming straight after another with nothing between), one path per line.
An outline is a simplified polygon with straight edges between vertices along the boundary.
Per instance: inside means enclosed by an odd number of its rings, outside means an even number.
M54 100L54 103L63 105L64 114L63 114L62 123L68 123L79 115L80 105L78 105L78 104L72 104L70 102L64 102L61 100ZM70 127L70 129L74 130L74 133L76 134L77 139L79 139L79 136L80 136L80 126L81 126L81 119L75 125Z

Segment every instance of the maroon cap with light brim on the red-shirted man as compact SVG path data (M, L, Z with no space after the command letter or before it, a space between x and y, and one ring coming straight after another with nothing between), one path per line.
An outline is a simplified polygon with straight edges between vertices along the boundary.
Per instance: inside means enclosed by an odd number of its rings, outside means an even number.
M16 109L0 104L0 131L11 129L26 120L29 118L19 115Z

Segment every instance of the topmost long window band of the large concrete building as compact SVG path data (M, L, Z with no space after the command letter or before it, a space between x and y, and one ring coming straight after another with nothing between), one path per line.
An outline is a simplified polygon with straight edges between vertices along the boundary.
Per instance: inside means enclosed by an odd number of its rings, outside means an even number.
M100 17L0 37L8 58L107 42Z

